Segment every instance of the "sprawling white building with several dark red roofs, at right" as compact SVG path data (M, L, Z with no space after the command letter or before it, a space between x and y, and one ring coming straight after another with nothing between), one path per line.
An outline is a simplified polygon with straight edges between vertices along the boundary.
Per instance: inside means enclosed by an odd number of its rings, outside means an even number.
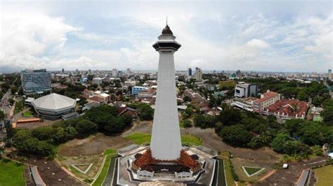
M266 115L275 115L284 119L305 119L308 111L308 103L296 99L281 99L272 106L264 108Z

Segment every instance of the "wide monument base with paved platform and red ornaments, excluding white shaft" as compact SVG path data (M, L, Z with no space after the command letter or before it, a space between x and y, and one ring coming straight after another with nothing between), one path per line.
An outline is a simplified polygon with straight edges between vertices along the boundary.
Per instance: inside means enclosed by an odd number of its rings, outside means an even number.
M119 150L119 155L117 184L171 181L210 185L217 153L202 146L183 148L179 159L166 161L152 158L149 146L131 145Z

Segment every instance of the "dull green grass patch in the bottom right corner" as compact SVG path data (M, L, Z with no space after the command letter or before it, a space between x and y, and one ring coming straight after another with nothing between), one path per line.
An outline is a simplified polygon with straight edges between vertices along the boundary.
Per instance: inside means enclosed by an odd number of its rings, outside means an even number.
M333 165L323 166L319 169L314 169L315 178L317 178L316 186L332 185L333 183Z

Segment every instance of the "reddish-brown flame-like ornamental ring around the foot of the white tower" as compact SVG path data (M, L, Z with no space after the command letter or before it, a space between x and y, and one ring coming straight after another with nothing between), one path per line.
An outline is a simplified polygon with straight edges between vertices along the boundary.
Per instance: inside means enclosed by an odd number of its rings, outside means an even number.
M185 166L189 168L192 172L200 171L201 165L197 160L192 159L185 150L181 150L181 157L175 160L163 160L155 159L152 157L152 151L150 149L146 150L141 157L138 157L132 164L132 169L138 171L138 169L145 166L154 165L158 163L174 163L178 165Z

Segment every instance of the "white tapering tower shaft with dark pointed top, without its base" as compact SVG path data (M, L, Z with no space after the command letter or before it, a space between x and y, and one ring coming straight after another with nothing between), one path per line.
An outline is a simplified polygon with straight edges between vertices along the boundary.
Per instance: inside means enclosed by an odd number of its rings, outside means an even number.
M150 150L152 157L161 160L178 159L181 156L181 129L179 127L174 52L181 47L166 23L162 35L152 45L159 52L157 96Z

